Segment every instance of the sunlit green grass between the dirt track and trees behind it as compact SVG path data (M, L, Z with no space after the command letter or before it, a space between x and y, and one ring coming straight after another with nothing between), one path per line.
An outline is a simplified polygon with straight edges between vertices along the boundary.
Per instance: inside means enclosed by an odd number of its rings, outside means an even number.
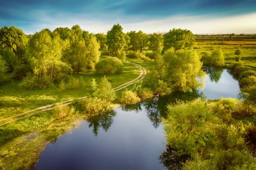
M106 77L112 87L117 87L135 79L139 74L140 71L137 67L125 62L121 75L107 75ZM99 82L104 75L85 73L73 75L73 77L82 77L89 87L92 78ZM90 95L88 87L59 91L59 84L55 84L49 89L21 89L18 87L18 83L18 81L13 81L0 87L0 120L42 105Z

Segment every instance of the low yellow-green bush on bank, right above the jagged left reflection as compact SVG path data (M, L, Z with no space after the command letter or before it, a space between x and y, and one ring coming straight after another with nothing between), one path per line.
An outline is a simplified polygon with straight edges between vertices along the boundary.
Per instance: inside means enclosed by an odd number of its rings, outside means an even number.
M110 101L98 97L87 97L79 103L87 116L96 116L112 110Z

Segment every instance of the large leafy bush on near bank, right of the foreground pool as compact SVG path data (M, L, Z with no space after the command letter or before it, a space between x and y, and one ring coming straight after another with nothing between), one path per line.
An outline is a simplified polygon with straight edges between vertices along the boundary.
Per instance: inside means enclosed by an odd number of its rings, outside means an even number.
M211 122L212 114L205 107L205 101L193 101L168 105L168 119L164 121L167 142L181 154L192 158L214 146L216 134Z

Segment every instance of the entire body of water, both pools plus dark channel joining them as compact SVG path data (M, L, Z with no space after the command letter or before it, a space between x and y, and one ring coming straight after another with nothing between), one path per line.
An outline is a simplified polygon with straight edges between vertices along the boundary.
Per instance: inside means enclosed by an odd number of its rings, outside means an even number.
M79 128L46 147L36 169L166 169L160 163L171 150L166 149L161 124L166 105L177 99L196 99L201 93L207 99L238 96L238 82L226 69L205 68L205 72L205 89L155 97L84 120Z

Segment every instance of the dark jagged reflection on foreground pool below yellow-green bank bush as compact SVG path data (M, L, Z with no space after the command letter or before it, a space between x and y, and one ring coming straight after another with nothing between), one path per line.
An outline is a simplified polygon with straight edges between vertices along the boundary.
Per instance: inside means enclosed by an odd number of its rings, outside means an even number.
M95 136L98 135L99 128L108 131L111 124L113 124L116 112L113 110L111 112L107 112L105 114L99 114L97 116L93 116L92 118L88 118L87 122L89 124L89 128L93 127L93 132Z

